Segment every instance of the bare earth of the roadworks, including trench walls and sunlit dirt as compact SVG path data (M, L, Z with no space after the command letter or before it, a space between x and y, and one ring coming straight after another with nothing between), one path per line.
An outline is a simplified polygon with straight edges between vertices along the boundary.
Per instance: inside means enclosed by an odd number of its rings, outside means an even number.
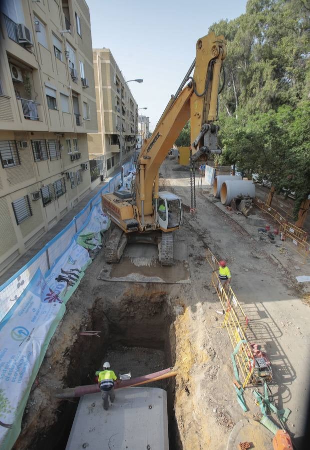
M103 359L117 373L131 371L132 376L175 367L176 379L154 383L168 391L171 449L226 449L237 422L261 418L251 387L245 390L249 411L237 401L233 347L217 313L220 302L205 261L208 247L227 260L232 287L250 319L247 337L268 353L274 399L278 407L292 410L287 425L298 448L309 395L310 308L295 275L306 273L309 263L301 268L293 251L278 251L280 241L276 247L258 239L257 227L246 225L245 217L234 220L204 187L197 188L198 212L192 217L189 174L177 168L176 161L166 159L160 184L184 203L185 220L175 240L187 247L191 283L98 279L105 267L100 251L66 305L14 448L65 448L78 399L59 400L53 393L94 382ZM128 246L124 256L131 251ZM100 338L80 335L82 330L100 331Z

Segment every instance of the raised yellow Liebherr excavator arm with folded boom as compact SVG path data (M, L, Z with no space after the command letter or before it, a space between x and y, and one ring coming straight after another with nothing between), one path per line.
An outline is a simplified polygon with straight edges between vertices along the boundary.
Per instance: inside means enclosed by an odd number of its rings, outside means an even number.
M145 216L153 215L153 198L158 198L159 167L189 119L192 161L221 152L217 144L218 126L213 122L217 119L220 72L225 56L224 36L211 32L198 39L196 59L166 106L152 136L144 139L136 173L136 207L142 223Z

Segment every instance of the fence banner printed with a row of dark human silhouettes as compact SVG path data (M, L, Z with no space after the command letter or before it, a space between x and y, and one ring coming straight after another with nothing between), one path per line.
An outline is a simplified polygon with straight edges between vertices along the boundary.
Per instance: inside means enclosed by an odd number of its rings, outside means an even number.
M90 263L88 251L73 237L69 247L46 272L45 280L66 303L79 285L84 276L84 270Z

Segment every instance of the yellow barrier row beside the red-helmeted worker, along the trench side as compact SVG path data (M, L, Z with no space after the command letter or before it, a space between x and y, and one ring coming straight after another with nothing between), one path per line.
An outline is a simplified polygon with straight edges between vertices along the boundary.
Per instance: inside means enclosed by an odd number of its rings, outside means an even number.
M213 270L219 267L218 260L210 248L206 251L206 261L209 262ZM222 308L225 311L222 327L227 329L233 348L236 349L238 343L241 340L243 341L239 345L239 349L234 357L237 368L239 369L242 387L244 388L251 380L254 368L254 356L245 334L248 326L248 318L231 286L228 286L225 289L216 272L212 273L211 282L215 287Z

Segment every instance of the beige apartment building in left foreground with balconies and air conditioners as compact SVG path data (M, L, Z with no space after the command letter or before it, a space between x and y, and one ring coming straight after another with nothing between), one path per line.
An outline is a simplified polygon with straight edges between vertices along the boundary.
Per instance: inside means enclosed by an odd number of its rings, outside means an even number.
M1 274L91 189L86 2L2 1L0 60Z

